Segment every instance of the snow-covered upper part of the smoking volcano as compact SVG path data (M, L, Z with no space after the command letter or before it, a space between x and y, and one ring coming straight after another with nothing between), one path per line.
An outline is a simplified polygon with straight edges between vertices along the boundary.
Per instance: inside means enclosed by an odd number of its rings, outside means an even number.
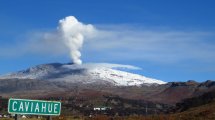
M0 79L41 79L81 84L111 84L115 86L165 84L161 80L133 74L122 69L140 68L109 63L88 63L82 65L52 63L0 76Z

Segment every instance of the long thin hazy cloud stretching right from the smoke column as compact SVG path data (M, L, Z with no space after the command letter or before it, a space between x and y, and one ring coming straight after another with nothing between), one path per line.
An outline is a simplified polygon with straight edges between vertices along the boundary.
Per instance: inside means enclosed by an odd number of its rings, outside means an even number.
M128 28L117 27L117 31L109 28L109 31L101 32L99 39L86 43L85 52L96 51L106 59L161 63L215 60L214 43L209 41L215 38L213 33Z

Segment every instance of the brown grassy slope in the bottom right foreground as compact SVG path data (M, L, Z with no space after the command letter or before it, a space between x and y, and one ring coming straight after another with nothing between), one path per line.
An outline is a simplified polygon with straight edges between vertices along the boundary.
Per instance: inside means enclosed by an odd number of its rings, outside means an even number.
M160 114L150 116L126 116L126 117L109 117L109 116L96 116L89 120L214 120L215 119L215 101L206 105L194 107L184 112L174 114ZM87 119L87 118L85 118ZM81 119L80 119L81 120Z

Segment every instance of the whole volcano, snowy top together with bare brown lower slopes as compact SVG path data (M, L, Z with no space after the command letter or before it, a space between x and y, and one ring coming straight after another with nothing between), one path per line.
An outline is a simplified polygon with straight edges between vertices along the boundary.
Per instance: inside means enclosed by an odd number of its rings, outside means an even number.
M110 63L50 63L0 76L3 97L43 98L103 96L175 104L215 90L215 82L164 82L132 73L140 68Z

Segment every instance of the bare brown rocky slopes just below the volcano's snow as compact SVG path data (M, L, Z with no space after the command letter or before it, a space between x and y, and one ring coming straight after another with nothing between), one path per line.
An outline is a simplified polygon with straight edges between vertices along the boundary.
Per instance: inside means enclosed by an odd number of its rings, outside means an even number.
M151 86L112 86L102 84L71 84L32 79L1 79L0 95L4 97L37 98L43 96L101 97L115 95L126 99L146 100L164 104L175 104L186 98L196 97L215 90L215 81L197 83L170 82Z

